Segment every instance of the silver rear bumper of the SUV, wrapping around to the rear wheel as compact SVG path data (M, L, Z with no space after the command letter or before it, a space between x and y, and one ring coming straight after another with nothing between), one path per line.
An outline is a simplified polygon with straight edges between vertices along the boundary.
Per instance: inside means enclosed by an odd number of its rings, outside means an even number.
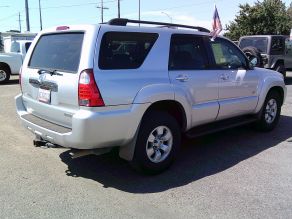
M126 145L134 137L148 104L133 104L125 110L92 112L80 109L72 117L72 128L63 127L27 112L22 95L15 97L24 127L53 144L67 148L94 149Z

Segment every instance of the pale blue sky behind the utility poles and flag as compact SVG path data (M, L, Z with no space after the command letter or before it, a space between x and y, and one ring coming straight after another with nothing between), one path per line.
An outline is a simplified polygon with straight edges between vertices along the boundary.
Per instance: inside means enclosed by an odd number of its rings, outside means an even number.
M216 3L223 27L238 14L239 4L254 4L256 0L140 0L141 19L189 24L211 28ZM39 0L28 0L32 32L40 30ZM100 0L40 0L43 28L70 25L95 24L101 21ZM139 0L121 0L121 17L138 19ZM291 0L284 1L288 6ZM117 17L117 0L104 0L104 21ZM18 13L22 31L26 30L25 0L0 1L0 32L19 30Z

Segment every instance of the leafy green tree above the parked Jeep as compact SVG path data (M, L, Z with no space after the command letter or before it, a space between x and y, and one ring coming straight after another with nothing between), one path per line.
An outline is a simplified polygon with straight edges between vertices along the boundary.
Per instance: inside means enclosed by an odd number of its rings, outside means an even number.
M292 4L286 9L281 0L257 1L253 6L240 4L239 15L226 26L225 36L238 40L243 35L288 35L292 27Z

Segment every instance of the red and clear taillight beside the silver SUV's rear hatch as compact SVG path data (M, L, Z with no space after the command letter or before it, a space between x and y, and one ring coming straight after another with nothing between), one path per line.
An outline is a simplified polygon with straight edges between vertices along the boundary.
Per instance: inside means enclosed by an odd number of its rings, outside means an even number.
M80 73L78 84L79 106L104 106L103 99L94 80L92 69Z

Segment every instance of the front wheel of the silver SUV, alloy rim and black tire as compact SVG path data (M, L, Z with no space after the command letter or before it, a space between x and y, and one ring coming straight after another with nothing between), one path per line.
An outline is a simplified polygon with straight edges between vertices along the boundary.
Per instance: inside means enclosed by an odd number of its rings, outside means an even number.
M270 107L271 103L276 104L275 109L277 110L273 119L271 119L272 113L273 113L272 107ZM256 127L258 130L263 131L263 132L268 132L268 131L272 131L276 127L280 119L281 103L282 103L282 99L277 91L270 91L268 93L266 100L264 102L264 105L260 111L259 120L256 123ZM270 109L268 109L269 107ZM269 112L271 113L271 115Z

